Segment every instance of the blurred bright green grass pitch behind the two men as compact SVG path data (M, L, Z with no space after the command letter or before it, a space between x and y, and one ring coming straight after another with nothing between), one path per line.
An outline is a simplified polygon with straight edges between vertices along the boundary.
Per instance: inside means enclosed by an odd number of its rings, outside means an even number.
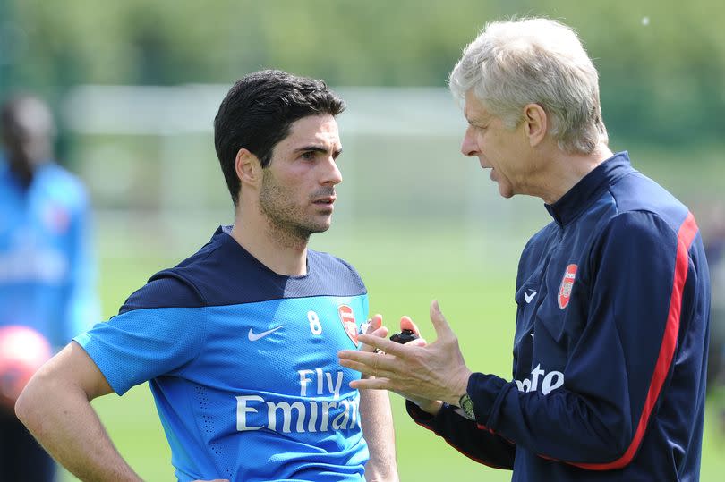
M542 223L546 218L542 214ZM216 220L209 220L213 225ZM195 226L190 246L206 241L210 230ZM101 240L103 241L103 240ZM142 246L143 240L136 240ZM407 314L433 338L428 307L432 299L459 336L470 368L510 377L515 308L516 261L525 236L491 236L460 225L401 224L336 225L313 239L315 249L332 251L353 262L367 283L371 312L382 313L388 326ZM101 243L103 246L103 242ZM132 248L124 254L102 248L101 291L104 315L112 315L125 297L161 267L179 258ZM397 461L404 481L504 481L510 472L469 461L442 439L405 415L393 395L397 432ZM109 395L94 402L119 451L146 480L174 480L166 439L147 385L124 397ZM712 408L712 407L711 407ZM702 480L715 482L725 473L721 452L725 439L708 410ZM73 480L68 474L66 480Z

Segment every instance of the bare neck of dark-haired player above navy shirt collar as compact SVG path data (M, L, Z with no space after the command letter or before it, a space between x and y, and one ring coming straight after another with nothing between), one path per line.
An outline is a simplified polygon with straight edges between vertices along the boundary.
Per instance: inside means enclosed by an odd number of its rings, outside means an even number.
M253 209L248 211L236 208L232 238L277 275L306 275L308 237L272 224Z

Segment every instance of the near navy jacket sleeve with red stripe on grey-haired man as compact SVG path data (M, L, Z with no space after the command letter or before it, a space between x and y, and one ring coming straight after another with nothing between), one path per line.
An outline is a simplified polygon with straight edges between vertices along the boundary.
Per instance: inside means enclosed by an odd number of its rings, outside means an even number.
M552 377L544 389L541 374L541 389L521 392L515 382L473 374L468 393L476 421L519 447L584 469L632 461L675 366L680 317L688 316L682 307L696 294L688 253L696 233L691 215L678 231L651 213L614 217L572 292L589 298L588 312L563 374L556 372L561 384Z

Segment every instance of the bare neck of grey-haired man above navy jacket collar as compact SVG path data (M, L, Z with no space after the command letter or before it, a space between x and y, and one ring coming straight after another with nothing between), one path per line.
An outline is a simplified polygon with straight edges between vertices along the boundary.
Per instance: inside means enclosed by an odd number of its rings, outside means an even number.
M565 154L557 148L550 162L544 163L542 183L536 196L547 204L557 202L577 182L612 156L610 148L600 144L590 154Z

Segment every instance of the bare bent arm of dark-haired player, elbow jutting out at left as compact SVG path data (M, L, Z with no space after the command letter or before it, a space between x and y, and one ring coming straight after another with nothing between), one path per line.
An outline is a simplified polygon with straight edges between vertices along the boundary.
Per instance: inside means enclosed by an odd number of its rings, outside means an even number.
M30 379L15 411L47 452L81 480L140 481L90 406L111 392L96 364L71 342Z

